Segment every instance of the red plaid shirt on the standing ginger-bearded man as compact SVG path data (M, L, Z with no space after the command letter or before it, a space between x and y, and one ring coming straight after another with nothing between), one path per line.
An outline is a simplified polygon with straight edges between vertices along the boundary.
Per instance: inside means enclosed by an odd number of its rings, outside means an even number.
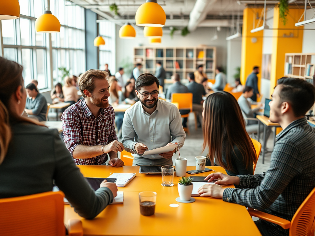
M82 99L70 106L61 116L63 139L73 157L74 148L79 145L107 145L117 140L115 131L115 112L111 105L101 108L96 118ZM74 159L76 165L101 165L107 160L107 154Z

